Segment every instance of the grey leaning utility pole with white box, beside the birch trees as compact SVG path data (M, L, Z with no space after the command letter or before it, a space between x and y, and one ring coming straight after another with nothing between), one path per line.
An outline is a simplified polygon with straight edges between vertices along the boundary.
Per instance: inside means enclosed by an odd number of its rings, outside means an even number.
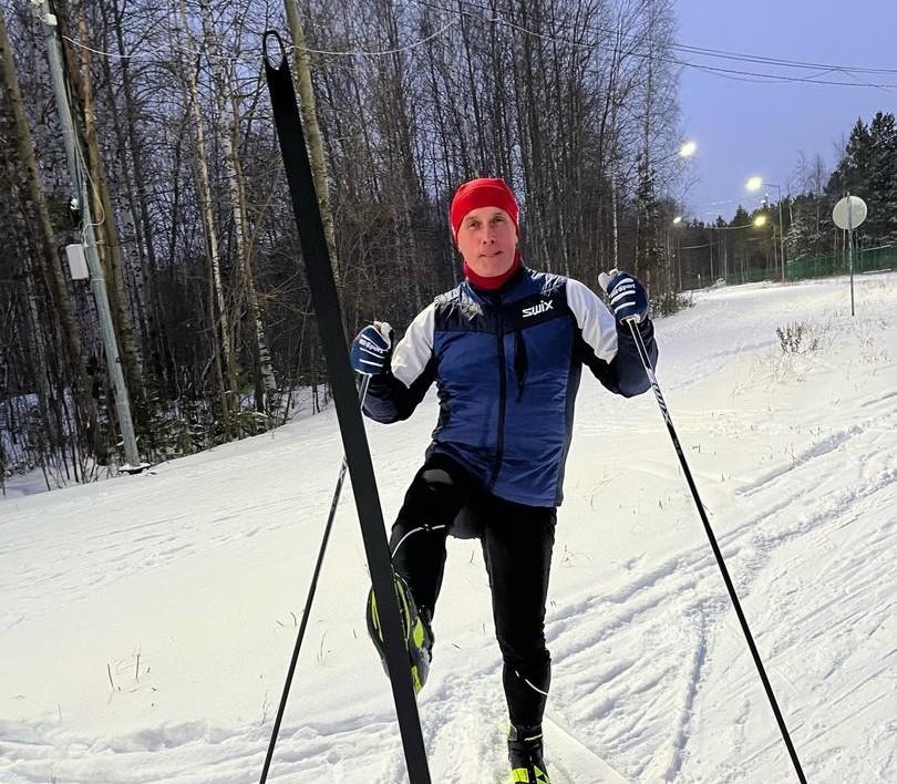
M115 340L115 329L112 324L112 313L109 308L109 293L106 291L106 279L103 274L103 266L100 255L96 251L96 236L93 227L93 216L91 214L91 199L87 189L87 173L83 164L78 136L74 131L72 110L69 105L69 96L65 90L65 76L62 68L62 47L59 40L59 21L50 9L49 0L31 0L34 12L40 18L47 39L47 58L50 62L50 75L53 81L53 93L56 99L59 117L62 123L62 136L65 143L65 156L69 162L69 172L72 177L73 198L76 198L81 209L81 237L84 245L84 256L90 270L91 290L96 303L96 316L100 321L100 331L103 337L103 345L106 351L106 364L112 376L115 389L115 411L118 415L118 425L122 429L122 441L124 442L124 453L126 466L125 471L141 471L143 462L137 452L137 440L134 436L134 422L131 419L131 399L127 394L124 373L122 372L122 360L118 355L118 345Z

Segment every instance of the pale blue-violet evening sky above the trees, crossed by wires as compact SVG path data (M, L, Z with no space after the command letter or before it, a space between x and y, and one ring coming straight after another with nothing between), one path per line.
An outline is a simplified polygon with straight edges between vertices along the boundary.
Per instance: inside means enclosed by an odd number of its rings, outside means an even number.
M683 133L697 141L692 172L683 188L685 214L712 219L731 217L741 200L756 206L762 197L744 184L761 175L782 193L796 187L798 154L819 153L831 169L836 145L857 117L868 122L877 111L897 113L897 0L677 0L680 44L781 60L894 69L891 74L832 72L839 82L893 84L876 87L822 86L797 82L735 81L694 68L680 76ZM697 56L678 58L714 68L808 76L816 71L775 70L761 63ZM688 186L690 182L698 182ZM777 198L774 187L765 188ZM673 194L680 196L680 194Z

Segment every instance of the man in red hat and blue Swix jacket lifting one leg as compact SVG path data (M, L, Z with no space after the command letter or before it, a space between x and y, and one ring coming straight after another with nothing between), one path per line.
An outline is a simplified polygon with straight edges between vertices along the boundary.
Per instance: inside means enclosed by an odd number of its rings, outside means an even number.
M390 538L415 689L430 667L446 537L477 536L504 659L512 781L547 784L545 605L581 367L616 394L647 391L627 322L637 323L652 364L653 327L643 287L626 272L607 286L611 316L581 282L525 267L517 203L503 180L463 184L450 218L464 282L419 313L395 345L388 323L365 327L352 365L370 375L364 413L378 422L408 419L433 381L439 390L433 441ZM382 657L373 596L368 626Z

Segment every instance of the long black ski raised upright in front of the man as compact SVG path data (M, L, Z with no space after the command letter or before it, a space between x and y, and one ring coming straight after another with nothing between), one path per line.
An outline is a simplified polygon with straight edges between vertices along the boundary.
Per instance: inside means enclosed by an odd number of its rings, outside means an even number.
M276 59L279 59L277 66L271 63L268 52L270 39L277 41L278 51L275 55ZM383 525L383 513L380 507L380 496L377 491L364 424L358 406L358 392L349 363L337 286L333 281L333 271L327 250L292 78L283 43L274 31L265 33L262 56L271 94L277 136L280 141L280 152L283 155L296 223L299 227L299 239L311 289L311 299L318 317L327 371L333 390L346 461L352 478L352 492L355 496L361 535L371 570L371 581L378 607L381 608L386 667L392 683L409 778L411 784L431 784L423 733L417 716L417 703L411 682L409 654L403 641L402 621L393 587L392 561Z

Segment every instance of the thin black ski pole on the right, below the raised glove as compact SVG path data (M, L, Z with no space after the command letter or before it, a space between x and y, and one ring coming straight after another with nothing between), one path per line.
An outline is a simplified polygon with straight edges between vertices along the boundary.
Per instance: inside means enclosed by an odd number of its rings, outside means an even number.
M735 615L738 615L739 622L741 623L741 630L744 632L744 637L748 640L748 647L751 649L751 656L754 658L754 664L756 664L757 672L760 673L760 680L763 681L763 688L766 690L766 697L770 699L770 704L772 705L773 713L775 714L775 721L779 722L779 729L782 732L782 737L788 749L791 761L794 764L794 771L797 774L797 778L800 780L801 784L806 784L804 772L801 768L801 761L797 759L797 752L794 750L794 745L791 742L791 735L785 726L785 720L782 718L782 712L779 710L779 703L775 701L775 694L773 694L770 679L766 677L765 669L763 669L763 662L760 660L760 653L754 644L754 638L752 637L751 630L748 627L748 620L744 618L744 612L742 612L739 595L735 592L735 586L732 584L732 578L729 576L729 569L725 567L722 551L720 550L719 544L716 544L716 537L713 534L713 529L710 527L710 520L704 512L704 505L701 503L701 497L698 495L698 487L692 478L689 464L685 462L685 454L682 452L682 445L679 443L679 436L676 434L676 429L673 427L672 419L670 417L670 411L667 408L667 403L660 392L660 385L657 383L657 376L654 375L653 368L651 368L651 358L648 354L648 349L645 345L645 341L641 339L641 332L639 332L638 328L636 327L635 318L628 318L626 321L629 323L629 330L632 333L632 339L636 341L636 345L638 347L641 364L645 368L648 380L651 382L651 389L654 391L654 398L657 398L657 403L660 406L660 413L663 414L663 421L667 423L667 430L670 431L670 437L672 439L673 446L676 447L676 453L679 455L679 463L682 466L682 471L685 473L685 481L689 483L691 495L693 496L694 503L698 506L698 514L701 516L701 522L704 524L704 530L707 530L708 538L710 539L710 546L713 548L713 555L716 556L716 564L719 564L720 571L722 571L725 587L729 589L729 597L732 599L732 604L735 607Z

